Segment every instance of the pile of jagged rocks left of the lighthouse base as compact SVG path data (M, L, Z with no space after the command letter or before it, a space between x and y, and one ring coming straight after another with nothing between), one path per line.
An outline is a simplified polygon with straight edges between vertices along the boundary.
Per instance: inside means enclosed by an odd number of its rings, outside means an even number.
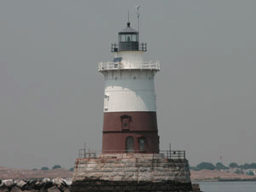
M0 180L0 192L70 192L72 181L56 177L54 179Z

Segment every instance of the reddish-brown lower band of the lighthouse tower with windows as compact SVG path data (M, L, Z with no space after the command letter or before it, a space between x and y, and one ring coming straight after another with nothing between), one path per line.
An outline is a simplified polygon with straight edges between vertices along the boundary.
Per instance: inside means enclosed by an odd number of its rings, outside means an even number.
M104 113L103 153L159 153L156 112Z

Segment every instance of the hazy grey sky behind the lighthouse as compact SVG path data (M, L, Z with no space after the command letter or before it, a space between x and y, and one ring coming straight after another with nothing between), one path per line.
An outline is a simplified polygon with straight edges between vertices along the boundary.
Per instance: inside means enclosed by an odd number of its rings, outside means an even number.
M0 1L0 166L70 168L102 149L103 75L126 26L148 44L160 149L256 162L255 0Z

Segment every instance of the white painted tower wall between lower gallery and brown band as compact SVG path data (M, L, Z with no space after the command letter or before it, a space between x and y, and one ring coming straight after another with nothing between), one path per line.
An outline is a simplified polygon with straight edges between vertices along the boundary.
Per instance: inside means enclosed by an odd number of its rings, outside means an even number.
M156 111L151 70L107 71L104 112Z

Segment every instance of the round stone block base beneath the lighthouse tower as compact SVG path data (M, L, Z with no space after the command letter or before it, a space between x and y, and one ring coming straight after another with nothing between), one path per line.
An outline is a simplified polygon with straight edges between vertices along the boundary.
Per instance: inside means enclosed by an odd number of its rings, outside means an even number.
M163 154L101 154L77 159L72 192L191 191L189 163Z

